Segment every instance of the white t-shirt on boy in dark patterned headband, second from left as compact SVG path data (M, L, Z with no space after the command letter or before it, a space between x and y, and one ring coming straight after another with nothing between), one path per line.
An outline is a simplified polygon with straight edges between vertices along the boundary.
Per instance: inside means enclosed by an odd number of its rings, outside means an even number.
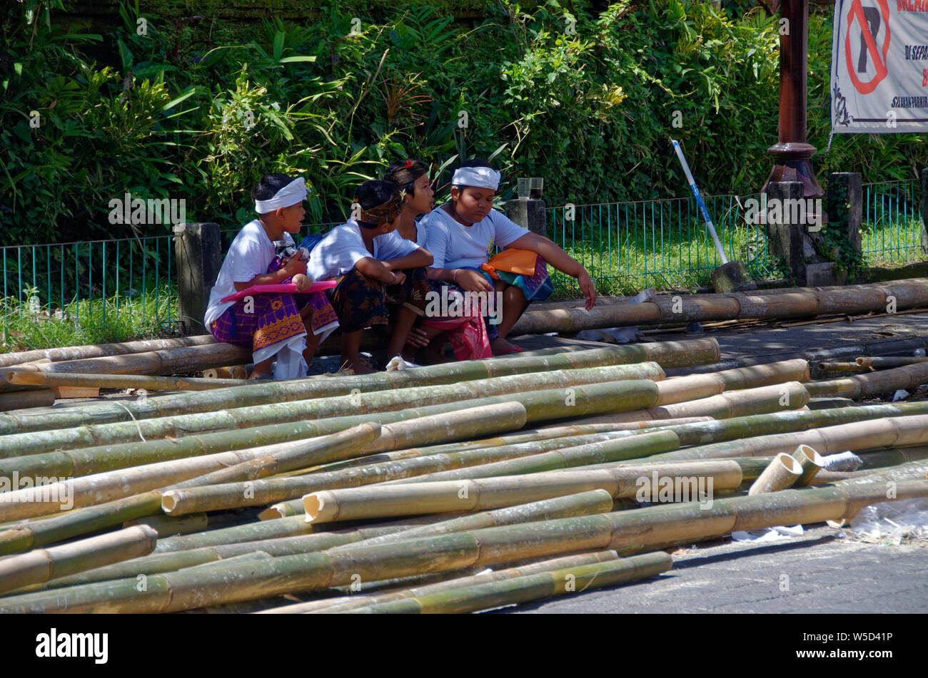
M365 257L389 261L406 257L418 249L415 243L391 231L374 238L374 252L371 253L364 245L361 228L352 219L329 231L309 255L306 264L309 277L314 281L331 280L354 269L354 264Z

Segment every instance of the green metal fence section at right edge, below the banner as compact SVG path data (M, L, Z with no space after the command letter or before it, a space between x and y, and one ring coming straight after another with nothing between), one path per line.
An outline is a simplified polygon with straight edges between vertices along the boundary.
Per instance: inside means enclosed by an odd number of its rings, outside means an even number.
M925 258L921 203L920 182L863 185L861 250L867 264L905 264Z

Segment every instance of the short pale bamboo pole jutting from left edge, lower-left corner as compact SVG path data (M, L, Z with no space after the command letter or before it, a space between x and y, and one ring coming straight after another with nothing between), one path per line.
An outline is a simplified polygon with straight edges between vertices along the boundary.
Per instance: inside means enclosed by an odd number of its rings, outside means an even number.
M158 533L148 525L127 527L64 546L37 548L21 556L0 559L0 594L151 553Z

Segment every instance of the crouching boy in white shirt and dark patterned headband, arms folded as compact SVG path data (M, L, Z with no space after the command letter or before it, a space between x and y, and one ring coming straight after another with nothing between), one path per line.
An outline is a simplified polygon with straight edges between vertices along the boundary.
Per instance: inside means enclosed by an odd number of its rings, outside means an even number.
M332 229L316 245L307 274L316 281L338 281L330 299L342 326L342 361L362 374L371 371L359 355L365 328L393 325L391 356L406 345L426 305L425 267L432 255L395 232L403 196L393 182L364 182L354 200L358 218ZM388 306L395 305L391 319Z

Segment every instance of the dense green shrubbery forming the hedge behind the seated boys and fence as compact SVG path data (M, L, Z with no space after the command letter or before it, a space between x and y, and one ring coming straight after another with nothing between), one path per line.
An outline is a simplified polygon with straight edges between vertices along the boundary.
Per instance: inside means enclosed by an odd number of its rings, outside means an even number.
M217 1L160 0L101 24L64 0L7 4L0 245L168 232L112 226L124 193L183 198L187 220L233 228L267 171L302 172L307 221L338 220L354 186L400 157L497 154L509 179L545 177L548 204L578 205L685 195L671 135L705 193L754 192L772 165L778 24L754 3L310 5L311 20L245 24L217 19ZM455 21L452 6L483 18ZM816 14L819 176L914 178L928 164L916 135L837 135L822 153L830 45L831 15Z

